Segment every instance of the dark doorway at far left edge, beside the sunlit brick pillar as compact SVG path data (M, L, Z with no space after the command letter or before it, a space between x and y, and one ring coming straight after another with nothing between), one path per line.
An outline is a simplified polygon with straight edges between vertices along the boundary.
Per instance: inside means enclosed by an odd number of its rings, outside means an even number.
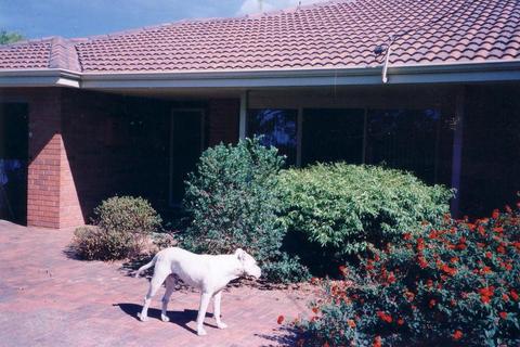
M0 104L0 219L27 222L27 105Z

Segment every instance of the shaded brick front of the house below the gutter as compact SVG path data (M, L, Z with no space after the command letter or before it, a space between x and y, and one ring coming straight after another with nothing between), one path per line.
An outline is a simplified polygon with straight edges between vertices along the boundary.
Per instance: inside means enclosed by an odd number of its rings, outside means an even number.
M20 88L0 89L0 100L25 110L27 223L67 228L116 194L168 216L206 147L253 134L287 165L405 169L456 188L455 215L489 214L520 189L519 87Z

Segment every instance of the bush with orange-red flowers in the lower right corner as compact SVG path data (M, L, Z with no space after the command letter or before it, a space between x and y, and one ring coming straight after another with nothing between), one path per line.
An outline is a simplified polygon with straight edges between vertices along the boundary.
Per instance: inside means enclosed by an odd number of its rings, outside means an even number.
M325 281L312 318L296 322L306 345L518 346L520 213L441 226Z

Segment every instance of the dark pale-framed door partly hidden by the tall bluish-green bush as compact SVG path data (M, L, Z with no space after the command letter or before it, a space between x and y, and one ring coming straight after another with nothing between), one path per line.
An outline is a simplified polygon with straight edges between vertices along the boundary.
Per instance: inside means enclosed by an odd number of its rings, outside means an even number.
M204 147L204 111L173 110L170 131L170 205L180 206L184 181Z

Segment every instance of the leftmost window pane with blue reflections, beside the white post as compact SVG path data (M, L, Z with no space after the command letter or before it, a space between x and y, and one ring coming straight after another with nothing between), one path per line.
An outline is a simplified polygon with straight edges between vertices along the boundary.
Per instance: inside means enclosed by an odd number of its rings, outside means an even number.
M247 137L263 134L262 143L278 149L286 155L287 165L296 165L296 110L249 110L247 116Z

